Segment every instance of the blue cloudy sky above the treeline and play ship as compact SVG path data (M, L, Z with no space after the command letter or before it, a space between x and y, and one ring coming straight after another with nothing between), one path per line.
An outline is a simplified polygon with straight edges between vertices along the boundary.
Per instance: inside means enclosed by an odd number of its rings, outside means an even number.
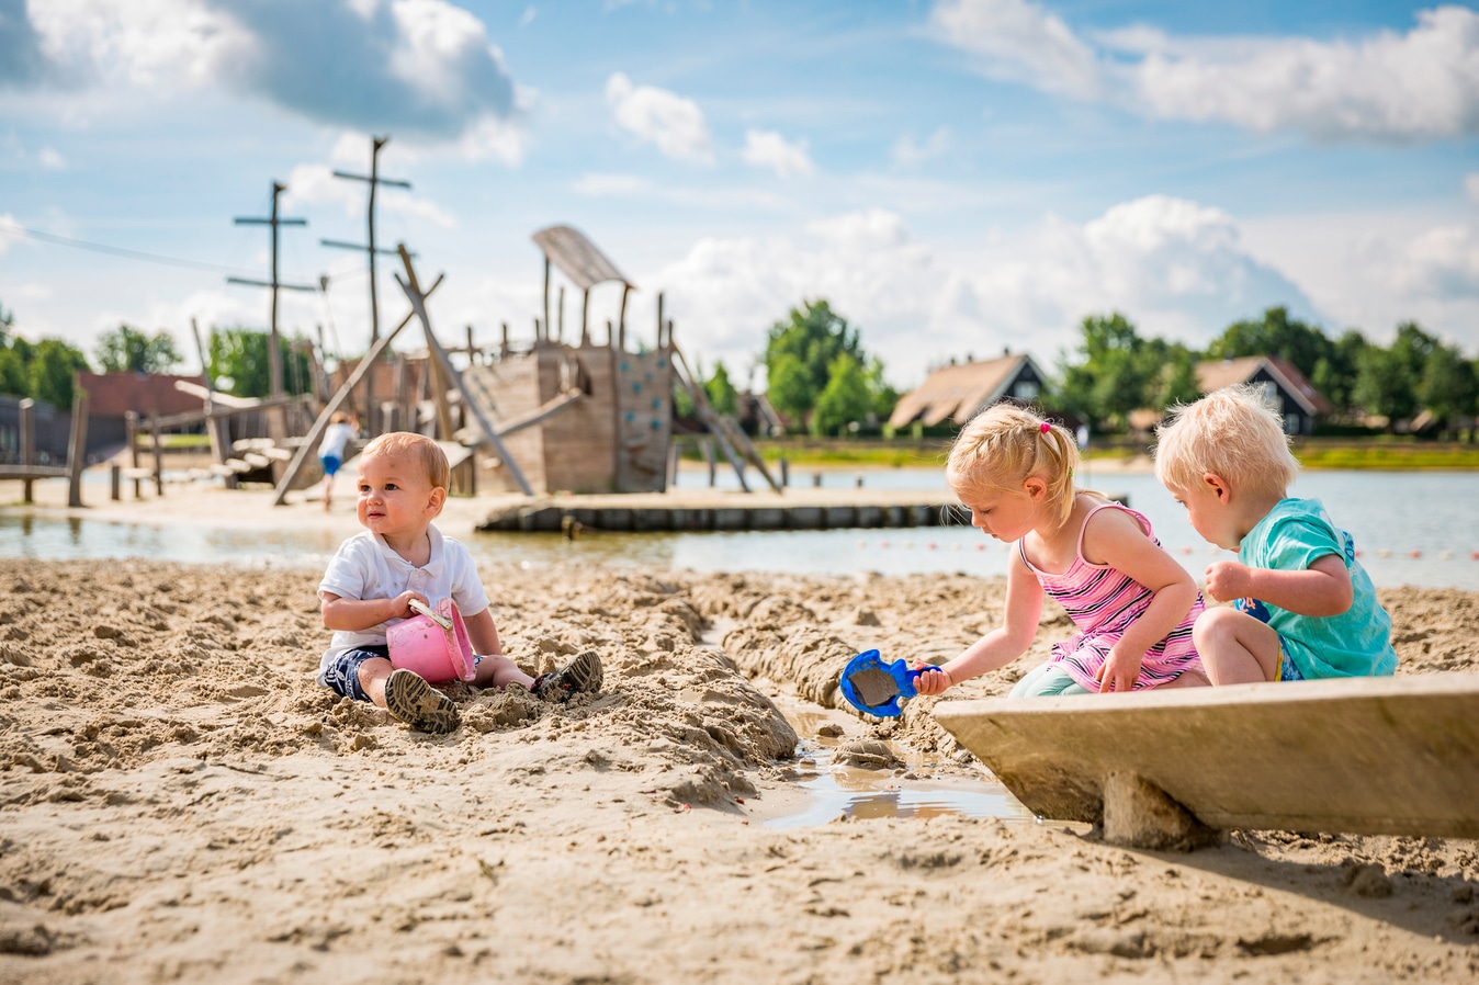
M1377 342L1417 319L1479 355L1479 10L1359 0L0 0L0 305L89 353L120 321L191 356L192 317L265 327L225 275L266 274L232 219L275 179L309 222L284 280L330 277L284 327L362 351L362 256L319 240L362 241L364 186L330 175L370 135L413 183L379 238L447 275L444 340L528 336L529 235L568 223L637 284L637 339L664 291L741 379L815 297L901 387L1050 365L1109 311L1194 345L1270 305Z

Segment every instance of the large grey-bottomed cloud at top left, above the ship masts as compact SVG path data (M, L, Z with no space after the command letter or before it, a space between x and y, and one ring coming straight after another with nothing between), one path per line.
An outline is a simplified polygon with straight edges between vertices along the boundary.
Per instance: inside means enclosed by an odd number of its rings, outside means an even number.
M507 135L488 130L518 111L503 55L482 21L447 0L46 0L28 16L47 62L28 70L30 84L124 84L154 98L213 86L518 160Z

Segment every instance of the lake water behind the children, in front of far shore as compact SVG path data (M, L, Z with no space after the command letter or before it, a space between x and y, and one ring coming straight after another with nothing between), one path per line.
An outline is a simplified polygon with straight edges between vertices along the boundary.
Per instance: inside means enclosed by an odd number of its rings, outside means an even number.
M1152 475L1086 469L1084 485L1124 494L1145 513L1165 549L1194 575L1208 561L1231 556L1210 547L1186 524L1183 510ZM791 472L812 485L812 472ZM942 469L822 472L822 487L944 488ZM683 472L680 487L704 485L703 472ZM734 472L719 473L734 487ZM1378 586L1414 584L1479 590L1479 473L1476 472L1307 472L1294 495L1325 503L1352 532L1361 562ZM691 568L695 571L793 571L805 574L1006 572L1007 547L969 527L913 529L745 531L590 534L566 541L558 534L473 534L448 531L479 561L528 565L578 561L603 565ZM302 532L158 528L90 519L0 516L0 556L38 559L155 558L183 562L322 566L337 537Z

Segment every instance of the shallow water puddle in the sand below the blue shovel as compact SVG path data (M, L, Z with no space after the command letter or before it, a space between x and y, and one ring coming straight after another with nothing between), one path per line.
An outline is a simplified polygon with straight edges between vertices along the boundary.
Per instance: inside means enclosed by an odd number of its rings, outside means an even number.
M964 815L1031 821L1006 787L989 778L938 774L938 759L890 745L904 762L901 769L861 769L836 754L839 742L856 739L859 723L799 698L775 698L785 719L802 737L797 745L797 787L805 790L800 810L771 818L768 828L802 828L842 818L933 818ZM840 722L850 722L852 735L834 735ZM831 728L828 728L831 726Z

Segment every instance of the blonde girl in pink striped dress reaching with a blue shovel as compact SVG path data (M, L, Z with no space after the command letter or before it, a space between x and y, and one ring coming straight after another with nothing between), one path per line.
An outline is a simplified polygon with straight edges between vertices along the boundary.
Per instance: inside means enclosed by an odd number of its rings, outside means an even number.
M942 694L1021 657L1037 633L1044 593L1078 633L1055 643L1012 697L1207 683L1192 646L1202 611L1197 584L1161 550L1149 521L1075 490L1077 466L1066 429L1010 404L982 411L955 438L945 472L951 490L973 527L1015 541L1015 550L1001 627L938 668L916 664L924 670L920 694Z

